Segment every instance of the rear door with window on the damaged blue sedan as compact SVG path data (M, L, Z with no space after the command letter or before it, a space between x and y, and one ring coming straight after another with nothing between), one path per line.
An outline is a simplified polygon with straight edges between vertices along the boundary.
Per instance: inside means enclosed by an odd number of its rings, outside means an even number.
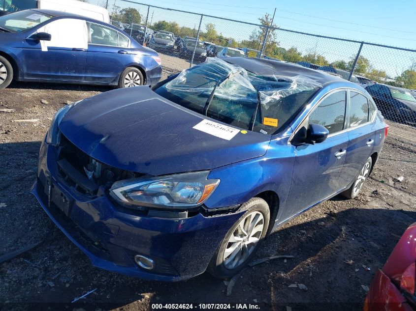
M345 166L340 175L340 186L347 187L358 175L365 161L372 154L376 128L374 113L370 113L369 99L363 93L349 90L347 110L348 138L350 140ZM370 101L371 102L371 101ZM374 112L374 109L372 109Z

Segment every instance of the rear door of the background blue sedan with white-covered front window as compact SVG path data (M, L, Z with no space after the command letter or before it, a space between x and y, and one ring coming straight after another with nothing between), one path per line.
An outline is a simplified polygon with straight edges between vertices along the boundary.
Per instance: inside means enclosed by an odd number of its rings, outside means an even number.
M103 25L88 23L87 69L85 80L111 83L131 62L130 40L124 34Z

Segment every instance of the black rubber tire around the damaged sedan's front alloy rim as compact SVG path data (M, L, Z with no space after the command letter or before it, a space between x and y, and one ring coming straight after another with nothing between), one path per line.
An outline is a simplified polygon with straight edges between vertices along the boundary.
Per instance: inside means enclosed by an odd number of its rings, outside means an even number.
M208 265L208 268L207 268L208 273L211 274L215 278L228 279L236 275L237 273L239 273L241 270L243 270L245 266L252 260L253 256L256 254L258 246L261 244L262 240L264 239L266 235L266 232L269 226L269 221L270 221L270 209L269 209L269 205L267 204L265 200L263 200L262 198L251 198L249 201L247 201L241 206L240 210L246 210L246 212L228 230L227 234L225 235L220 246L217 248L217 251L215 252L215 254L212 256L211 261ZM237 230L239 230L237 227L239 227L239 224L241 221L243 221L246 218L250 219L251 217L250 214L253 214L254 217L258 215L257 213L254 213L254 212L259 212L263 216L263 228L261 230L261 234L257 235L258 242L253 246L253 250L251 251L251 253L248 253L248 256L243 261L238 263L238 265L236 265L233 268L226 267L225 266L226 261L224 260L224 251L226 247L231 243L231 242L228 242L231 235ZM260 224L260 222L258 224ZM256 225L254 225L254 228L256 228ZM246 250L248 250L247 247L246 247Z

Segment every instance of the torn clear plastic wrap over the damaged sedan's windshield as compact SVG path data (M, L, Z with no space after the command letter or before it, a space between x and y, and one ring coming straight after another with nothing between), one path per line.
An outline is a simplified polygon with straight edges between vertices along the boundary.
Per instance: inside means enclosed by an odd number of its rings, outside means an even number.
M253 102L256 105L259 96L261 109L265 113L271 108L276 113L281 105L286 105L282 98L322 86L315 80L300 75L255 75L220 58L208 57L205 63L183 70L165 87L182 98L187 95L208 98L215 85L228 75L231 75L230 78L217 86L216 98L225 99L227 103L238 103L244 99L246 103ZM231 105L227 106L224 109L234 109Z

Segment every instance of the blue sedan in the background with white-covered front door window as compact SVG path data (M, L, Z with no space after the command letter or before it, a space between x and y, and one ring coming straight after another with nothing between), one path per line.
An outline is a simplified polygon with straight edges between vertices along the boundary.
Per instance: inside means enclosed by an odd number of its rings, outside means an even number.
M15 79L118 87L160 80L158 53L112 25L66 12L0 17L0 88Z

